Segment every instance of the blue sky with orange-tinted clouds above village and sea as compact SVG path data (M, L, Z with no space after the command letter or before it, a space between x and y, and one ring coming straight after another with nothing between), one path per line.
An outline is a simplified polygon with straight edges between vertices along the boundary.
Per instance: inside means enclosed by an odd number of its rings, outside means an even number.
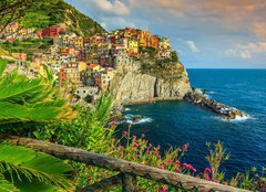
M108 31L171 39L188 68L266 68L266 0L65 0Z

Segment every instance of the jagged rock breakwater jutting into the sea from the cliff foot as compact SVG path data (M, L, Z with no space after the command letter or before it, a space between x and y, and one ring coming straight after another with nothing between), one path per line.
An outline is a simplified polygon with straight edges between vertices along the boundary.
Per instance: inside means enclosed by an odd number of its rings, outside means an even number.
M192 92L187 93L185 99L196 106L203 107L205 109L209 109L213 113L224 117L227 120L235 119L236 117L246 117L247 115L243 111L221 104L214 99L207 98L201 89L193 88Z

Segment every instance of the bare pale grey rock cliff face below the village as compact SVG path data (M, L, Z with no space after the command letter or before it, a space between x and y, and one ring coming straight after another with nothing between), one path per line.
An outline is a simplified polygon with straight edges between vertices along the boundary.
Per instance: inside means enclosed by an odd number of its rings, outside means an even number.
M185 94L191 92L191 85L183 68L178 74L168 77L141 72L119 73L113 79L111 89L116 103L123 105L183 99Z

